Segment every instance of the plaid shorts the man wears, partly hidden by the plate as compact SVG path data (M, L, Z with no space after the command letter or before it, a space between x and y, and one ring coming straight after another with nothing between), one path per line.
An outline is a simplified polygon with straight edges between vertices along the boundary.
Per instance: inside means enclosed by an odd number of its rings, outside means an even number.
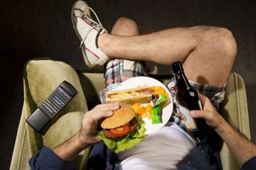
M117 88L121 82L137 76L148 76L146 68L142 65L141 61L134 60L123 60L123 59L114 59L110 60L106 64L106 72L104 74L105 89L100 92L100 99L102 103L106 102L106 92ZM177 103L175 94L176 86L174 85L174 78L170 80L167 85L167 88L173 98L173 111L170 121L175 122L179 125L184 131L186 131L185 122L181 118L181 112L179 109L179 104ZM212 104L215 108L219 109L220 102L223 101L225 94L224 86L214 86L214 85L205 85L199 84L197 82L189 81L191 86L200 92L204 96L210 98Z

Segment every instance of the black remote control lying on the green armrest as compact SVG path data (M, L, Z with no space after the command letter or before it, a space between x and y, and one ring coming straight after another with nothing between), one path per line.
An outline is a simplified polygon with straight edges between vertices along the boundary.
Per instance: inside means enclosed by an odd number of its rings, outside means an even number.
M44 133L45 126L60 113L61 109L77 94L77 90L63 81L52 94L34 111L26 122L38 133Z

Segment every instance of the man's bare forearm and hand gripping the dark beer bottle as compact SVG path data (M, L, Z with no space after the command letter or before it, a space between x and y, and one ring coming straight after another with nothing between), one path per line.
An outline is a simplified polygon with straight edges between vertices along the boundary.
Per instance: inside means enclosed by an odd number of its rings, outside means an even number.
M189 114L194 118L205 119L207 125L213 128L227 144L239 165L243 165L251 157L256 156L256 145L232 128L215 110L207 97L199 93L199 98L204 110L193 110Z

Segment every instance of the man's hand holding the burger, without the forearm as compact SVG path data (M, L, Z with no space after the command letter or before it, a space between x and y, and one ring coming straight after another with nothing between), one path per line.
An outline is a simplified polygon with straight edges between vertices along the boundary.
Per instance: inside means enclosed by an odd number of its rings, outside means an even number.
M104 117L113 115L113 111L119 109L119 103L96 105L94 109L84 114L82 129L79 132L79 140L84 147L99 143L102 138L98 135L96 127L98 121Z

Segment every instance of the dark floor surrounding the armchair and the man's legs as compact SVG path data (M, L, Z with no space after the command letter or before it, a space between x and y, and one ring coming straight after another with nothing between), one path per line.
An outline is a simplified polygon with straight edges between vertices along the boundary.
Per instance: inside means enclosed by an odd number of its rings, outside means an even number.
M245 80L251 138L256 142L256 1L87 1L111 30L122 16L134 19L142 33L193 25L230 29L238 44L234 71ZM27 60L48 56L75 69L86 68L71 25L73 1L1 1L1 169L9 169L23 99L22 68ZM163 66L162 73L169 67Z

